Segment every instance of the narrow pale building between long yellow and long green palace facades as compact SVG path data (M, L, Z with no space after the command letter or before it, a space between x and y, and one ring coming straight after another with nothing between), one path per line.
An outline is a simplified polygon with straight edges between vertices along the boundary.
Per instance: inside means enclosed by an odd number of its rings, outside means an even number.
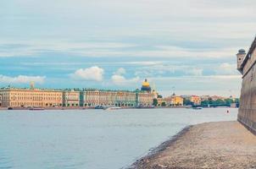
M80 106L80 91L64 90L63 106Z

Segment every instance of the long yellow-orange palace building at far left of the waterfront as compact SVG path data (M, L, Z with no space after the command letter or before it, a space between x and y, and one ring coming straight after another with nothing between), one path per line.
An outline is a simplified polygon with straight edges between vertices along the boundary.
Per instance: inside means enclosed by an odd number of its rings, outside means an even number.
M28 106L62 106L61 90L15 89L0 90L1 106L28 107Z

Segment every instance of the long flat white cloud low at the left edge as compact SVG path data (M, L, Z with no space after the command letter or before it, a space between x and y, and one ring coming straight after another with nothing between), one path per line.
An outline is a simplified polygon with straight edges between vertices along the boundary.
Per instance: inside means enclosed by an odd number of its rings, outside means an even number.
M43 84L45 79L46 79L45 76L19 75L16 77L10 77L10 76L4 76L3 74L0 74L0 82L4 84L28 84L30 82Z

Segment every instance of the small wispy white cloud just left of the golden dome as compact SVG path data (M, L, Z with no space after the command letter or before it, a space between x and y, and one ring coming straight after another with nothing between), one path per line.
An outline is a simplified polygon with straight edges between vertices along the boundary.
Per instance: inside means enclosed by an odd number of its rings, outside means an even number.
M125 79L125 73L125 68L119 68L116 72L114 72L114 75L111 77L111 80L114 83L114 85L136 85L140 78L136 77L132 79Z

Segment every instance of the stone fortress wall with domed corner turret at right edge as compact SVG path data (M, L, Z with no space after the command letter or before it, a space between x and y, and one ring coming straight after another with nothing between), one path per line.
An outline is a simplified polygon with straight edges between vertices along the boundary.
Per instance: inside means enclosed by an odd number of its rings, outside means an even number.
M242 90L237 120L256 134L256 38L248 53L239 50L237 69L242 74Z

